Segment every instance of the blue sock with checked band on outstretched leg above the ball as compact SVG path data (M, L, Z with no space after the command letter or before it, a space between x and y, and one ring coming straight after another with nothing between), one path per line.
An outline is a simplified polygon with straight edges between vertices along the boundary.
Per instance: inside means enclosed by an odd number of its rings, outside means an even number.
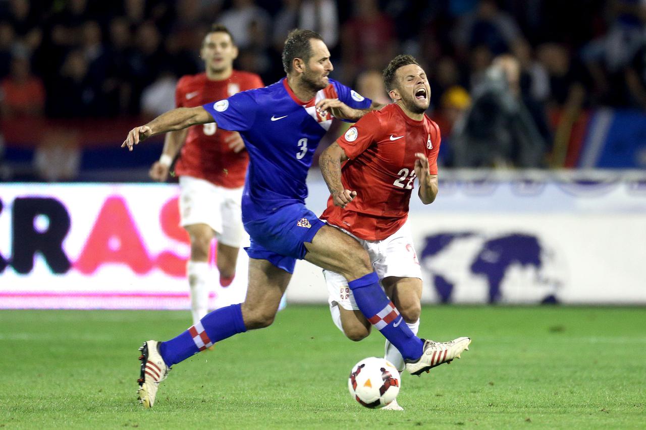
M404 360L417 360L422 356L424 342L410 331L404 318L386 296L379 285L377 273L372 272L350 281L348 286L362 314L375 326L375 329L395 345Z

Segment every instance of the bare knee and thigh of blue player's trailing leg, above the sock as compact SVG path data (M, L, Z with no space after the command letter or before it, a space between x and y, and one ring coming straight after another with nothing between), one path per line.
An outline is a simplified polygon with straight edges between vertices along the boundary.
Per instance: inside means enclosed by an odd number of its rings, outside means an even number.
M247 330L262 329L273 323L290 279L291 273L269 261L249 258L249 285L241 305Z

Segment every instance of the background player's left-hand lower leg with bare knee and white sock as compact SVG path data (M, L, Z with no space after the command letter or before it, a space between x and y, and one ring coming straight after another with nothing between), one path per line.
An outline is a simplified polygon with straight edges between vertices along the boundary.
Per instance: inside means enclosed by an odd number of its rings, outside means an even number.
M209 251L215 232L209 225L201 223L187 225L184 229L191 240L191 259L186 265L186 272L191 287L191 314L193 323L196 323L209 312Z

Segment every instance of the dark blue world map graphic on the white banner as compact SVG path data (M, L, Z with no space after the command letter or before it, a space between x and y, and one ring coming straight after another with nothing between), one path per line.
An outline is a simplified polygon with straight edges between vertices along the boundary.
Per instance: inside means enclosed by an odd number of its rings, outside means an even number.
M565 263L553 247L521 232L439 232L420 252L441 303L482 298L488 303L557 303ZM469 299L467 299L469 301Z

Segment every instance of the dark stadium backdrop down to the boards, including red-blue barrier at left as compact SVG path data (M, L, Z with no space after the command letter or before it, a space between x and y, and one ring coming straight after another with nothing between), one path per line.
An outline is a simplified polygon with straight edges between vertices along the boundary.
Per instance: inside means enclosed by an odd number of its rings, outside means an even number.
M116 144L172 107L176 79L202 69L198 46L215 22L231 26L236 67L267 84L284 75L282 41L295 26L322 33L334 77L384 101L375 72L413 54L430 77L446 167L470 167L455 159L452 126L492 59L510 52L541 147L523 167L643 168L645 19L632 0L0 1L0 180L145 180L160 144L137 158ZM605 108L637 139L590 163L586 130ZM512 152L494 164L514 167Z

